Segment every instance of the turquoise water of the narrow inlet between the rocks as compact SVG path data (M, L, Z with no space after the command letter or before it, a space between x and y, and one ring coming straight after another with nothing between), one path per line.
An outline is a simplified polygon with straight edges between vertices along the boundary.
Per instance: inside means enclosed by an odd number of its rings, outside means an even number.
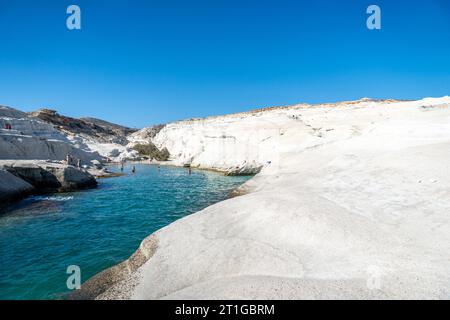
M100 179L94 190L30 197L0 216L0 299L64 298L69 265L81 268L84 282L127 259L152 232L226 199L248 179L136 169Z

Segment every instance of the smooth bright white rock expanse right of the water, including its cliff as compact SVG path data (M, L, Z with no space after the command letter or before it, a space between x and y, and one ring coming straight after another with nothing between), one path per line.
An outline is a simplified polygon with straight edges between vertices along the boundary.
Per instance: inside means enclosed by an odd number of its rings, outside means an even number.
M449 97L177 122L154 142L178 164L263 169L156 232L98 298L450 298Z

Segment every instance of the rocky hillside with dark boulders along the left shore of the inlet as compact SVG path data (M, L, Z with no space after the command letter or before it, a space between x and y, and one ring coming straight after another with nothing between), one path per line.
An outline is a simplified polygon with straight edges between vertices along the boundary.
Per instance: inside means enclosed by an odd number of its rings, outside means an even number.
M96 178L117 176L104 163L119 161L119 150L134 156L124 145L136 131L49 109L0 106L0 209L29 195L95 188Z

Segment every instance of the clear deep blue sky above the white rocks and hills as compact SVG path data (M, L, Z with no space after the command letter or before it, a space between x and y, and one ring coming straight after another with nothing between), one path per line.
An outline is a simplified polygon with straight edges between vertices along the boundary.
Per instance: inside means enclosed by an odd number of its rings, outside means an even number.
M66 28L77 4L82 30ZM378 4L382 30L366 28ZM448 0L0 0L0 104L134 127L450 94Z

